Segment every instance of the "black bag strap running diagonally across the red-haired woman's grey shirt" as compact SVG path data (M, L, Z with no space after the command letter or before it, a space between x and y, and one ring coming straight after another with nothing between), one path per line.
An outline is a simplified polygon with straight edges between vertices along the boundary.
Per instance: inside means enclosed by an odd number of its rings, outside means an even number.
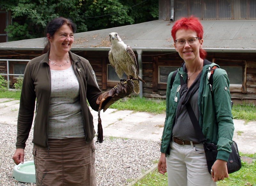
M184 79L180 75L180 86L182 86L184 84L185 84ZM193 108L192 108L192 106L190 105L189 102L186 104L186 108L188 110L189 118L190 118L190 120L191 120L191 122L193 124L193 127L194 127L195 132L196 132L196 136L199 139L199 142L200 143L205 142L206 140L205 140L203 131L202 131L200 125L199 125L199 122L197 121L195 112L193 111Z

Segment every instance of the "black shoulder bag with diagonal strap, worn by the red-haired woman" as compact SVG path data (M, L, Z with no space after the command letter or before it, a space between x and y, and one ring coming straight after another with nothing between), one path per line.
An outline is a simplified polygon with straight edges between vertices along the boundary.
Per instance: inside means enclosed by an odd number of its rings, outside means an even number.
M212 78L212 74L210 78ZM182 85L184 85L184 79L180 75L180 86ZM212 165L214 164L217 158L217 146L213 143L206 143L206 139L204 137L203 131L199 126L199 122L197 121L196 115L189 102L188 104L186 104L186 108L188 110L189 118L196 131L196 135L200 143L204 144L204 152L206 156L207 167L208 167L209 173L211 174ZM232 153L229 154L228 163L227 163L228 174L238 171L242 166L237 144L235 141L233 141L233 144L231 145L231 149L232 149Z

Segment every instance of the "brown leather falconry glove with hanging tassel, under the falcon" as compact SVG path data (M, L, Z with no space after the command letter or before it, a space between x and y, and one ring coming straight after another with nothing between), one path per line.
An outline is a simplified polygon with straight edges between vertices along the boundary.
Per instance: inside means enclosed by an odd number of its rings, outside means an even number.
M96 103L99 105L99 111L98 111L98 132L97 132L97 143L103 142L103 130L101 125L101 119L100 119L100 110L103 109L103 112L107 110L110 105L115 103L117 100L120 100L121 98L124 98L128 95L130 95L133 92L134 85L133 82L128 79L127 81L121 81L117 84L114 88L109 90L108 92L102 93L98 99L96 100Z

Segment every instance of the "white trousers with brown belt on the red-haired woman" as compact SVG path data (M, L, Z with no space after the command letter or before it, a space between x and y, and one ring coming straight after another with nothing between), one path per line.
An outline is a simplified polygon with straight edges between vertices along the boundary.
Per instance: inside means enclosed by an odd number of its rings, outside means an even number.
M217 186L208 172L204 146L170 144L166 157L168 186Z

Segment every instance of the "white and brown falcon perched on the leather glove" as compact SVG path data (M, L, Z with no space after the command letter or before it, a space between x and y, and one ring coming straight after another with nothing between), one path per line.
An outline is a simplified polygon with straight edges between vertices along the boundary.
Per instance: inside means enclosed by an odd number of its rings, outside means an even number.
M140 93L139 80L145 83L137 71L137 61L130 46L124 44L118 33L109 33L109 41L111 43L110 51L108 52L108 59L111 66L116 70L117 76L122 79L123 73L125 73L129 79L134 82L134 92Z

